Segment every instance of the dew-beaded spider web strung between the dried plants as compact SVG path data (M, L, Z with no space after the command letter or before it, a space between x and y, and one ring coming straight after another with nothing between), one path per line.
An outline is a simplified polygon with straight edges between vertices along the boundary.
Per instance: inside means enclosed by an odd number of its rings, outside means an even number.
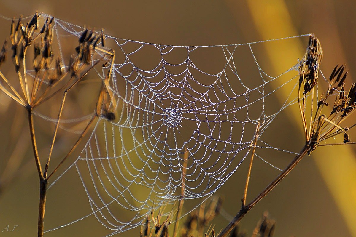
M79 37L84 29L58 18L54 22L62 55L62 39ZM305 36L309 35L270 41ZM94 216L111 236L140 225L152 206L182 198L206 200L245 160L258 122L258 147L293 153L269 145L262 135L283 109L296 102L288 97L281 108L269 109L274 92L288 83L297 85L299 63L296 59L281 75L267 75L254 54L259 43L175 46L107 35L106 45L116 49L109 88L117 101L116 119L99 118L80 155L49 185L74 169L91 211L48 231ZM247 56L255 62L258 77L241 76L241 57ZM103 80L109 66L96 71ZM272 81L286 75L287 80L271 89ZM88 116L61 123L81 119ZM131 216L120 215L125 210Z

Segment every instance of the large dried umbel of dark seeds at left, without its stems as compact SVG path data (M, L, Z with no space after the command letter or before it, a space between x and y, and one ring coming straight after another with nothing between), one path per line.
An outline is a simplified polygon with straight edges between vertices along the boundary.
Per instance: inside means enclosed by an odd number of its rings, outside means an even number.
M18 77L21 92L12 86L3 74L2 80L8 88L0 86L0 89L17 103L27 108L33 108L47 101L58 92L70 90L84 75L101 61L106 63L113 61L115 54L113 50L106 51L97 47L104 46L103 30L96 33L93 29L85 29L79 38L79 45L75 48L75 54L70 58L69 65L63 65L63 58L55 58L53 52L53 17L46 17L43 26L39 27L38 19L41 14L36 14L27 23L23 23L21 17L11 22L10 49L12 51L12 63ZM35 77L29 77L26 65L27 52L33 48L31 57ZM0 65L6 60L6 41L0 51ZM112 120L115 118L110 104L112 94L107 90L110 83L111 70L108 70L106 79L99 95L97 115L103 114ZM114 107L112 105L111 107Z

